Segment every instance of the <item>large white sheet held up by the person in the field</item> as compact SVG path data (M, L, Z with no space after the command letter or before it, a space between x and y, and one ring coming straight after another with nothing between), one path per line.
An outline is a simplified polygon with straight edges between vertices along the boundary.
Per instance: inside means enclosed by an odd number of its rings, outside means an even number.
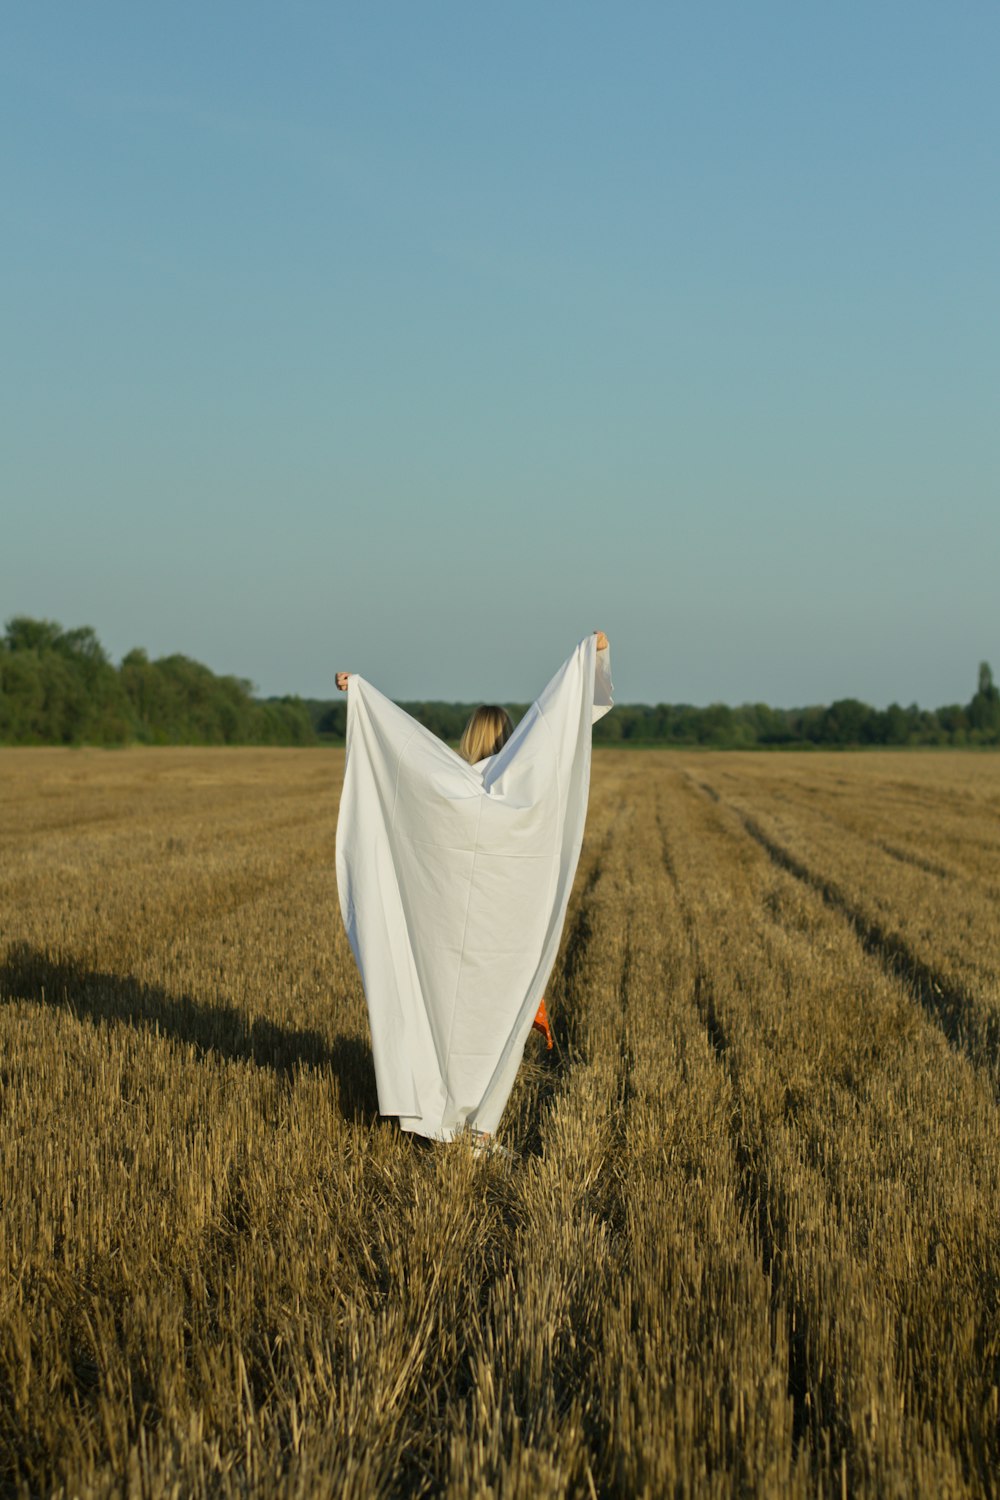
M337 819L340 912L378 1104L451 1140L496 1128L559 948L612 706L586 636L496 756L468 765L357 674Z

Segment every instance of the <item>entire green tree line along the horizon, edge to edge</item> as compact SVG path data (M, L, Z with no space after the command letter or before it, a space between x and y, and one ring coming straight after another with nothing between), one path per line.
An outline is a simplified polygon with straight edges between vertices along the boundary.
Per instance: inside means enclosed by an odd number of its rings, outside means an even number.
M457 742L475 704L400 705ZM517 722L526 704L504 705ZM63 630L18 615L0 639L0 744L342 742L346 702L253 696L244 678L217 676L186 656L151 662L129 651L114 666L90 626ZM856 698L826 706L766 704L619 704L594 726L597 744L706 746L717 750L838 746L1000 746L1000 690L987 662L969 704L871 708Z

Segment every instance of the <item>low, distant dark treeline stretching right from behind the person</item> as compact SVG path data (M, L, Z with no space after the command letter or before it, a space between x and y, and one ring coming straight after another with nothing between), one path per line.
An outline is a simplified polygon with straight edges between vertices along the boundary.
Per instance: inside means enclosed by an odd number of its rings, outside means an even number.
M304 699L316 735L343 740L343 699ZM475 704L402 704L442 740L457 741ZM505 704L514 723L526 704ZM706 746L715 750L811 746L1000 746L1000 690L990 664L979 668L979 687L969 704L945 708L871 708L841 698L828 708L769 708L744 704L618 704L594 724L595 744Z

